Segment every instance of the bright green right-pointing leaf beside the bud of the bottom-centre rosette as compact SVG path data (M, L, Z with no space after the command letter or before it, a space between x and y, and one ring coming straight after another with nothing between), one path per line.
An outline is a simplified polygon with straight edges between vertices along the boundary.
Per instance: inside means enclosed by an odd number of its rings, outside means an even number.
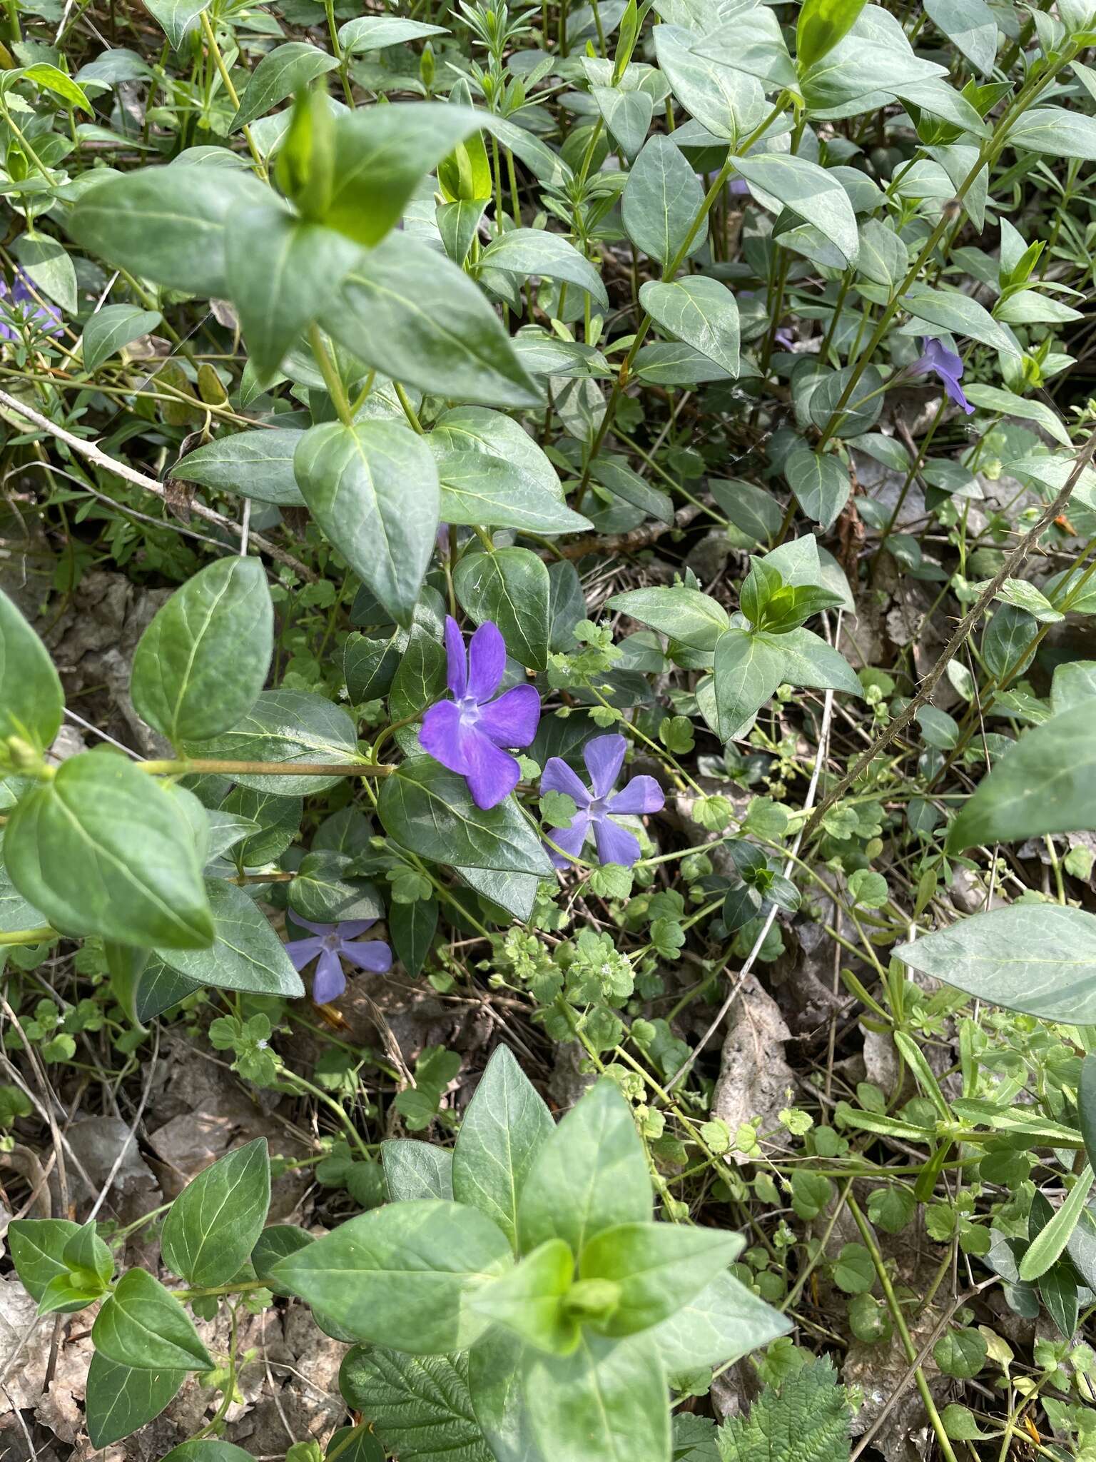
M620 1287L617 1307L602 1322L605 1335L634 1335L668 1319L700 1294L742 1250L738 1234L677 1224L618 1224L582 1250L582 1279Z

